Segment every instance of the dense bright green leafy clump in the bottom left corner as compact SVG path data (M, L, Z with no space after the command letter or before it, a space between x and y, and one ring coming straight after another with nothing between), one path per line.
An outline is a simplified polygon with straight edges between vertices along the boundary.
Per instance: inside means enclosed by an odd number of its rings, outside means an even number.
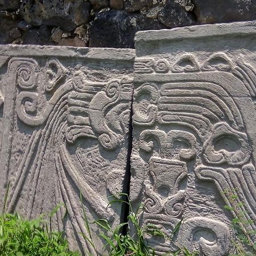
M79 256L68 249L63 233L48 229L44 218L26 220L18 213L0 216L0 255Z

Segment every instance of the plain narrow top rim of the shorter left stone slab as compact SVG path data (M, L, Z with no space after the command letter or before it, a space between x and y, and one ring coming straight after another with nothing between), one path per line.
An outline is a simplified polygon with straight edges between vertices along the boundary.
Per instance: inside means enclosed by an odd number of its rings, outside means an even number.
M133 61L135 49L4 44L0 45L0 56L62 56Z

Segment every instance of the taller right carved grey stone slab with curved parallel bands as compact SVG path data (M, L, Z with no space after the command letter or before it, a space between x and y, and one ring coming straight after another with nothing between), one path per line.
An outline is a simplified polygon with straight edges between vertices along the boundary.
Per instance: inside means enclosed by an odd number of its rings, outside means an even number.
M215 24L135 38L131 201L144 205L142 225L169 236L182 220L175 244L148 237L157 255L178 246L229 255L232 219L256 228L255 28Z

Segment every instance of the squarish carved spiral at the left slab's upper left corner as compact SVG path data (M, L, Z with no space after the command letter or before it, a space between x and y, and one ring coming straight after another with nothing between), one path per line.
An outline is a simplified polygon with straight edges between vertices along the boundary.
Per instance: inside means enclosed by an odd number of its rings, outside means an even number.
M16 71L16 82L20 88L28 89L35 86L36 81L36 67L30 61L22 62Z

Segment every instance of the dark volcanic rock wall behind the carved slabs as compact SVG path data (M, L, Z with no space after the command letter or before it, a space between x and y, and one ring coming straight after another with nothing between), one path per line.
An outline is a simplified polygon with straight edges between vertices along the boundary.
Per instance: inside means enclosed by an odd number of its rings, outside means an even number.
M0 0L0 44L134 48L141 30L254 19L254 0Z

